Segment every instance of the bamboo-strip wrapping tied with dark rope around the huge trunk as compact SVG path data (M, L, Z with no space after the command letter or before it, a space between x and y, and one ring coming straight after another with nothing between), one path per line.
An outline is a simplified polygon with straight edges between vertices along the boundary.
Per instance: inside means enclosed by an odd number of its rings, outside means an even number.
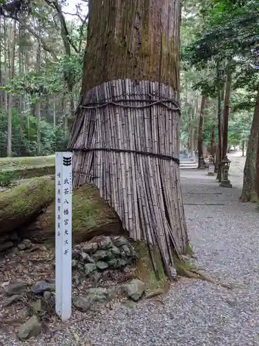
M130 237L160 248L169 276L173 256L183 255L188 242L179 122L171 87L113 80L83 95L70 141L74 188L97 185Z

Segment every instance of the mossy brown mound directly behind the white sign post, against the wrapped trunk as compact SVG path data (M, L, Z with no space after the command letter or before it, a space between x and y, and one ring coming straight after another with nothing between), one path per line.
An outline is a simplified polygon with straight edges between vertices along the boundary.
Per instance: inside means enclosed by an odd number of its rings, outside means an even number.
M99 191L91 184L85 184L73 192L72 203L72 237L73 244L86 242L95 235L122 234L119 217L103 199ZM32 242L44 242L55 245L55 203L20 232Z

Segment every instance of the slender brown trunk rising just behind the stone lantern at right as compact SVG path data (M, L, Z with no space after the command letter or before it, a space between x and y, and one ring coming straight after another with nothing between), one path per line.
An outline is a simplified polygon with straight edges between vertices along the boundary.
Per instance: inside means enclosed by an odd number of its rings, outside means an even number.
M226 80L226 92L224 97L224 109L223 109L223 143L222 143L222 158L227 155L227 136L229 128L229 99L231 91L231 68L227 66L227 80Z

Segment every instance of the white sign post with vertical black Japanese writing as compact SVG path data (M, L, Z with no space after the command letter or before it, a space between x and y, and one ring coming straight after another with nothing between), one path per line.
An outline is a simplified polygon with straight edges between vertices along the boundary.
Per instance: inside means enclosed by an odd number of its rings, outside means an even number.
M56 152L56 313L62 321L72 305L72 153Z

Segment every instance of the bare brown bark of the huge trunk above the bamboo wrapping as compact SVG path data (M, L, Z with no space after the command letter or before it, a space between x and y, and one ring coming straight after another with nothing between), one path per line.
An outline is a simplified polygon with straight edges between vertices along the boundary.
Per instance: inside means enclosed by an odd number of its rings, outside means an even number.
M180 0L89 1L81 93L126 78L178 91L180 10Z

